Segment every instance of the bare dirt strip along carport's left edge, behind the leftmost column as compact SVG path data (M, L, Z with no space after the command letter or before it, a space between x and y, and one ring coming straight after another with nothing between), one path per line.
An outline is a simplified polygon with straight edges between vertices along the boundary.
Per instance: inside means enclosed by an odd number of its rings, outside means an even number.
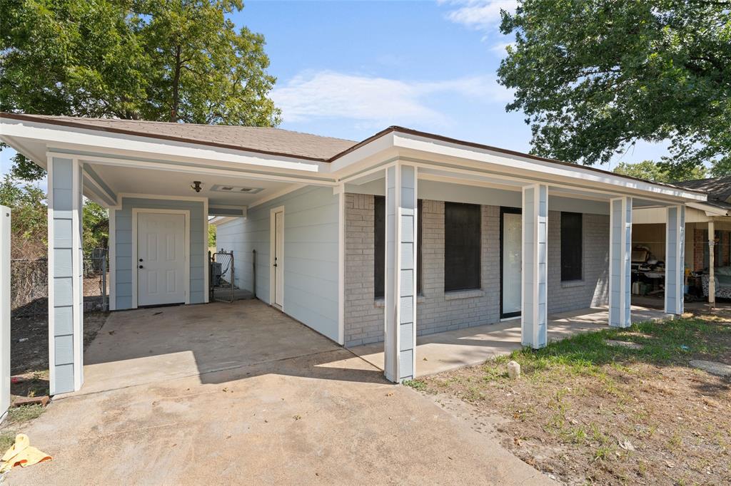
M84 349L107 321L108 313L84 315ZM48 395L48 319L13 319L10 325L10 384L15 396Z

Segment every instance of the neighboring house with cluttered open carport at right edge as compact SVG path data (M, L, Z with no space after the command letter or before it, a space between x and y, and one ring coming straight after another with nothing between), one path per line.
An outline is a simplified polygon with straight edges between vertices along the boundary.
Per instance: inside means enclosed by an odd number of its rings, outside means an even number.
M689 203L686 207L685 266L702 274L703 295L709 301L715 301L716 296L731 298L731 177L690 180L677 185L708 195L708 201ZM635 209L633 218L633 247L647 247L663 260L665 212L659 208Z

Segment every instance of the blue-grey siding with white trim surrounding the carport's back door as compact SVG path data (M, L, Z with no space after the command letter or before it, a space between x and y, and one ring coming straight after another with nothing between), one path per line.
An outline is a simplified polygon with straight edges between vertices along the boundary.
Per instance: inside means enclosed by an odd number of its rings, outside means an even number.
M205 261L208 236L204 235L205 215L202 201L122 198L122 209L115 212L115 299L117 309L132 309L132 209L180 209L190 212L190 303L205 302Z

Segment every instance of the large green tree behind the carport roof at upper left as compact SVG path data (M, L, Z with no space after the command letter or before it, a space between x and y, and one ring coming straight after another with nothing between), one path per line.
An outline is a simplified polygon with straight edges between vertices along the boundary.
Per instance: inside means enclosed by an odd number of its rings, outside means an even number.
M276 126L264 37L241 0L4 0L0 110ZM22 156L15 175L44 172Z

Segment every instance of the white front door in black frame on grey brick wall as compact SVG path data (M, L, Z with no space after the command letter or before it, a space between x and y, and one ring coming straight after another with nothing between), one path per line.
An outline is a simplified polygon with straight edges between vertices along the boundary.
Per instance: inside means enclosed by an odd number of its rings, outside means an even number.
M502 208L502 289L500 317L520 315L520 265L523 252L523 231L520 212Z

